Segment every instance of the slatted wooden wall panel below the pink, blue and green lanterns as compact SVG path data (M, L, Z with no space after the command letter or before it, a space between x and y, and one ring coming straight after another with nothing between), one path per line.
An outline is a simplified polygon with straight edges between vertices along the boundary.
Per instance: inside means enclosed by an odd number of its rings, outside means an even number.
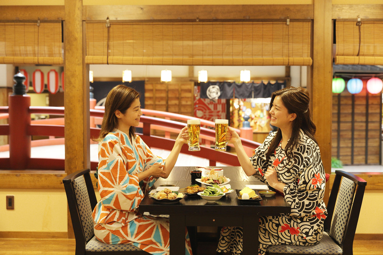
M381 97L368 94L366 88L355 96L347 90L333 96L331 154L343 164L380 164Z

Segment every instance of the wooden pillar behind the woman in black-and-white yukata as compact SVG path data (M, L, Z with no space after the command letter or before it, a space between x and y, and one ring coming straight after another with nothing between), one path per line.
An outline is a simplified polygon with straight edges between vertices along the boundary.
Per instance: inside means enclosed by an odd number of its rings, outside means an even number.
M326 173L331 173L333 26L332 0L314 0L313 65L308 68L308 88L316 137ZM326 186L325 202L329 197Z

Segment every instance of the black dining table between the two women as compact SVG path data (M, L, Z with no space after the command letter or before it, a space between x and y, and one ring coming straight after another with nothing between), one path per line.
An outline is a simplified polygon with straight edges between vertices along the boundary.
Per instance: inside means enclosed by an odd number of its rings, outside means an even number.
M240 166L220 166L223 175L230 179L234 192L226 194L214 203L209 203L198 195L186 196L175 204L161 203L147 194L142 200L139 211L152 215L169 215L171 255L185 254L185 228L187 226L230 226L242 227L242 254L250 255L258 251L258 226L260 216L289 213L290 205L278 192L272 197L262 197L261 201L239 200L235 192L246 184L264 184L254 176L246 176ZM190 172L195 167L176 166L167 179L159 178L153 188L171 184L186 188L191 185ZM201 184L200 184L201 185Z

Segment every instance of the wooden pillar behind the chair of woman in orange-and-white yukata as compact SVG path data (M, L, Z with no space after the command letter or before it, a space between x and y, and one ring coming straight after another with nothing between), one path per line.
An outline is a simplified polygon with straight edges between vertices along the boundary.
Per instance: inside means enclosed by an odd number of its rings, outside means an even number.
M90 167L89 66L85 65L82 0L65 0L65 172ZM68 212L68 238L74 238Z

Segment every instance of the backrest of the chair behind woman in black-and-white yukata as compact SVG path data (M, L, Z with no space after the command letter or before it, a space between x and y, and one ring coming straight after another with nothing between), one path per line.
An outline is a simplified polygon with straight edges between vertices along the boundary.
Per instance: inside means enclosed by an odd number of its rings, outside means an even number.
M354 174L335 171L334 184L327 205L328 217L324 227L329 236L343 248L343 254L349 254L345 249L350 248L352 254L352 244L366 185L365 180Z

